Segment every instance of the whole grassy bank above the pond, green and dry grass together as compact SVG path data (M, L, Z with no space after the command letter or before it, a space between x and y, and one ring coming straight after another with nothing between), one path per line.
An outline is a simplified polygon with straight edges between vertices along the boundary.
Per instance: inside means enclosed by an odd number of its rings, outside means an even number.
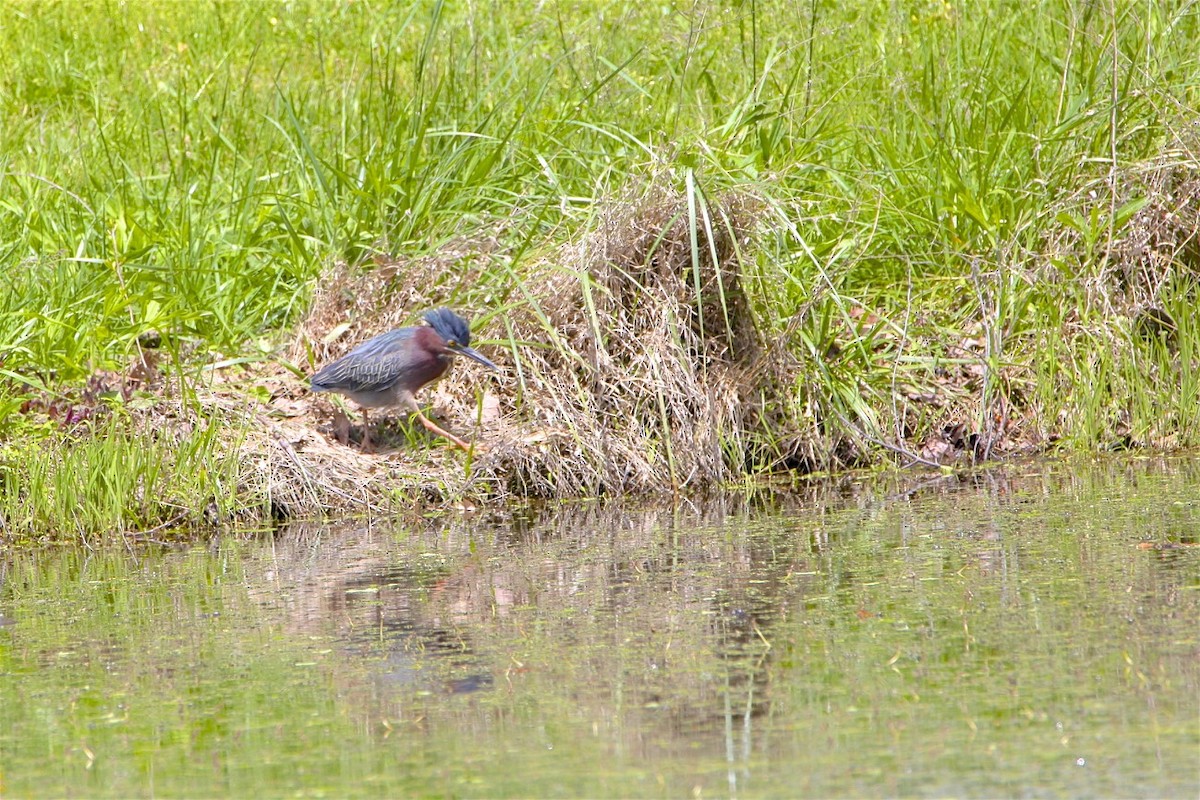
M1200 438L1190 4L0 14L8 536ZM432 305L486 452L338 444Z

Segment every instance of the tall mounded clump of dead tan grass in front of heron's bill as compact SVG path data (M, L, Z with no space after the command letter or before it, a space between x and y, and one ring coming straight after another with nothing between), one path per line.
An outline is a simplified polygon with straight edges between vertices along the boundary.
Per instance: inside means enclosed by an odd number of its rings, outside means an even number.
M752 218L659 181L534 270L488 331L523 344L480 471L536 497L736 477L772 372L739 279Z

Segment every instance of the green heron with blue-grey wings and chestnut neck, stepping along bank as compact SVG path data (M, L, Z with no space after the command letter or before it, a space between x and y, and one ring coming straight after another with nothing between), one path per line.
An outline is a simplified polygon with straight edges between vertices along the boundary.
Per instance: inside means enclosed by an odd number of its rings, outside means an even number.
M341 392L362 407L362 449L370 446L367 409L403 405L426 428L463 450L467 443L421 414L415 393L450 369L450 359L464 355L499 369L470 347L467 320L449 308L425 313L428 325L401 327L367 339L312 377L314 392Z

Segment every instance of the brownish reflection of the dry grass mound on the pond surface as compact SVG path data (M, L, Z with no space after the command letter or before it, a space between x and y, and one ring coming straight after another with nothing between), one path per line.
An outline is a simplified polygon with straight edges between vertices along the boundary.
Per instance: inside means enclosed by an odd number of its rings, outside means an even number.
M577 509L522 527L294 528L252 596L295 634L332 637L383 684L443 694L572 685L622 758L742 763L769 714L775 625L820 595L820 565L745 506ZM388 698L374 709L389 712ZM424 712L424 711L422 711ZM395 724L396 720L390 720Z

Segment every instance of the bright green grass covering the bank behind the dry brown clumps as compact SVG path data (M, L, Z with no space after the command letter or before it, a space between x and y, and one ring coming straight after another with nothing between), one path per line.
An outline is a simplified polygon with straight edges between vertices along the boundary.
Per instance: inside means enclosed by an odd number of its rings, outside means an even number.
M523 263L665 166L762 201L746 285L830 435L893 438L895 385L971 331L977 427L1020 401L1084 447L1196 444L1194 325L1145 342L1104 281L1130 170L1200 103L1198 40L1188 2L8 4L0 469L73 450L26 401L142 337L186 386L263 357L332 263L481 231L511 258L450 300L521 297ZM1186 312L1195 269L1153 302ZM858 308L882 323L851 332Z

